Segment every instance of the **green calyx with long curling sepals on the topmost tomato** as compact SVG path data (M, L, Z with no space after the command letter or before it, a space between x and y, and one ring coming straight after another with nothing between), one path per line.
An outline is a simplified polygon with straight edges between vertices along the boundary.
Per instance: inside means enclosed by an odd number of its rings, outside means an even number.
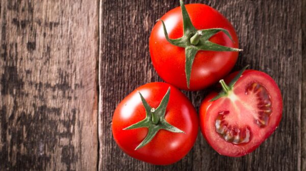
M210 29L202 29L197 30L189 17L189 14L185 8L183 1L180 1L180 6L182 9L183 15L183 32L184 35L178 39L170 39L168 37L167 29L163 20L163 29L166 40L174 46L179 46L185 48L185 74L187 80L187 87L189 88L190 85L190 75L191 75L191 68L193 64L194 57L199 50L206 50L206 51L242 51L242 49L236 49L231 47L222 46L216 43L209 41L209 39L216 35L218 32L224 32L225 35L232 40L230 33L223 28L210 28ZM159 21L159 20L158 20ZM232 40L233 41L233 40Z

